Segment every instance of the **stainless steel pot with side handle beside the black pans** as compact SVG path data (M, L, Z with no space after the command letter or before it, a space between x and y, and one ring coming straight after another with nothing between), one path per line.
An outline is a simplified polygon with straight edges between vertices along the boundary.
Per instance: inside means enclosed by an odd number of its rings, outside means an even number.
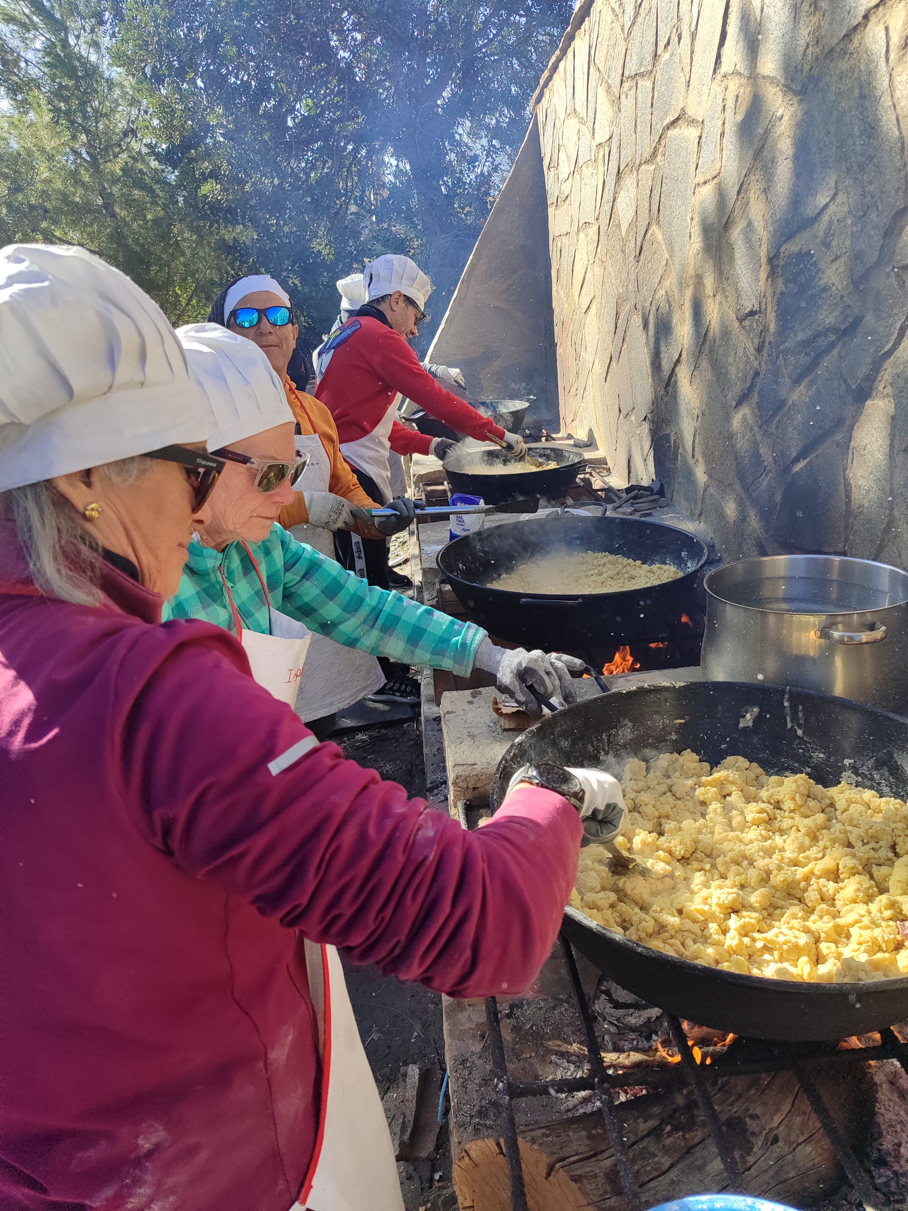
M908 699L908 573L869 559L774 555L706 580L709 681L799 685L892 710Z

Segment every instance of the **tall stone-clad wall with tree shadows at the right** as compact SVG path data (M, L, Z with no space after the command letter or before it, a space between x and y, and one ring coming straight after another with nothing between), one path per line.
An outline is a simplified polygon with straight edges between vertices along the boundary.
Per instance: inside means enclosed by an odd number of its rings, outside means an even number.
M908 4L574 25L536 105L564 427L726 558L908 564Z

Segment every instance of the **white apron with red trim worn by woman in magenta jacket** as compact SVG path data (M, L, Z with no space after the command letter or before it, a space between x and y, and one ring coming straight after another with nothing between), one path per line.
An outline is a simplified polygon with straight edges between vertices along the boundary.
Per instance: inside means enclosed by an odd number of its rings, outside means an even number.
M318 1135L291 1211L403 1211L391 1135L333 946L305 943L318 1021L322 1103Z

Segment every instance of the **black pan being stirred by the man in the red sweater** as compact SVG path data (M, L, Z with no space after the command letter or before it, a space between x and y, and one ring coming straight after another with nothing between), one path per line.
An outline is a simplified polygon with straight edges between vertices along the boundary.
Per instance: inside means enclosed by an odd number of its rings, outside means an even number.
M557 463L558 466L540 471L528 465L525 471L501 475L501 467L513 466L515 458L496 446L472 446L467 449L459 446L442 466L453 492L467 492L470 495L482 497L487 505L501 505L507 500L523 500L527 497L559 500L573 487L585 465L584 455L577 450L565 450L547 442L530 442L527 450L531 458Z

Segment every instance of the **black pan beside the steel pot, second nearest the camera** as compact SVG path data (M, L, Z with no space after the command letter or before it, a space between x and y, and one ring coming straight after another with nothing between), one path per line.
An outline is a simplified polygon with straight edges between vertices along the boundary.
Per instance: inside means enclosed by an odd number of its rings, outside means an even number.
M518 477L519 478L519 477ZM671 563L677 580L622 593L521 593L489 581L527 561L565 551L608 551L642 563ZM545 517L455 539L438 567L470 618L492 635L529 648L598 648L653 642L691 608L706 546L685 530L640 517Z

